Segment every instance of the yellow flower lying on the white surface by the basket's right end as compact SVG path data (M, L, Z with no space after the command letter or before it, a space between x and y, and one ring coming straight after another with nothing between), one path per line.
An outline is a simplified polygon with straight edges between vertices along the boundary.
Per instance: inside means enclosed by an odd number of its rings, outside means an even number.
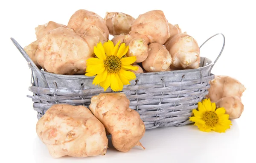
M198 102L198 110L192 110L194 116L189 117L190 121L195 122L195 126L201 131L210 132L225 132L230 129L231 121L229 115L225 114L226 110L221 107L216 109L215 103L211 103L210 99L204 99Z

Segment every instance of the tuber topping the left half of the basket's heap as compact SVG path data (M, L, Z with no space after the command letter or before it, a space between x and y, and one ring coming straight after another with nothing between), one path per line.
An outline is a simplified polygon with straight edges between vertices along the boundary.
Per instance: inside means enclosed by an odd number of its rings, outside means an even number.
M84 36L96 37L98 42L107 42L109 37L108 27L98 14L80 9L76 11L67 24L67 27L73 28L77 33Z

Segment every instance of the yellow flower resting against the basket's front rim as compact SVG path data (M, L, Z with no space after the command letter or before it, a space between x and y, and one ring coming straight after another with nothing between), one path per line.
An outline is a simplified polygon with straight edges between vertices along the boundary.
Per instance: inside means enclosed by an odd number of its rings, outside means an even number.
M94 47L94 53L98 58L87 59L86 76L95 76L93 84L100 85L104 91L111 87L114 91L121 91L123 85L130 84L130 81L136 79L133 72L128 70L138 70L138 67L131 64L136 61L136 56L123 57L128 46L120 41L114 46L113 42L108 40L103 45L101 42ZM119 48L118 48L119 47Z

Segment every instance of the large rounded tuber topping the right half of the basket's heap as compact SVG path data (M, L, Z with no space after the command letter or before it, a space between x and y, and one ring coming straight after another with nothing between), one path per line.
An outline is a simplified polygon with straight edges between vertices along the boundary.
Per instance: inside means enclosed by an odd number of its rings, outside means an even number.
M147 43L163 45L170 37L169 26L163 11L148 11L134 20L129 33L133 38L145 39Z

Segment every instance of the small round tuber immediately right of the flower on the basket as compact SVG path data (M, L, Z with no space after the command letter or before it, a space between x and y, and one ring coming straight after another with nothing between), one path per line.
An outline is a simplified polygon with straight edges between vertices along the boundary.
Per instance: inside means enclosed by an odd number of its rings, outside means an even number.
M129 43L127 56L136 56L136 62L145 61L148 57L148 45L144 39L132 39Z

